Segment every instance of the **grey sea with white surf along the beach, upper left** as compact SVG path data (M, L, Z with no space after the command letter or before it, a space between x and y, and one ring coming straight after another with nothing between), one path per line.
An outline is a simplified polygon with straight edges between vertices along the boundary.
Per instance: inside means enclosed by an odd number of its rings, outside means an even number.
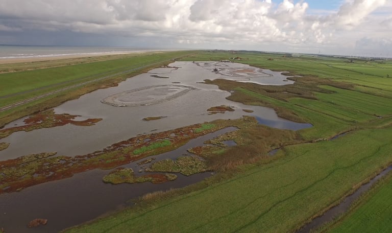
M0 59L162 51L132 47L0 45Z

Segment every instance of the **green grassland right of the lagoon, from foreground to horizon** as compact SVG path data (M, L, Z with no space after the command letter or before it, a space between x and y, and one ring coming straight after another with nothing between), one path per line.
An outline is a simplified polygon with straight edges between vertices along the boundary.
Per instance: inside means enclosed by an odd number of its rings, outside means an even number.
M236 56L249 58L241 61L244 63L304 77L295 78L295 85L283 87L227 80L208 82L234 89L229 99L274 107L288 119L312 123L314 127L298 132L307 141L351 132L333 141L285 146L274 159L249 159L252 165L242 166L241 172L224 181L211 184L207 180L182 191L170 191L166 197L161 193L150 195L153 200L163 200L144 203L69 232L292 231L339 203L392 163L392 78L387 77L392 74L390 62L347 63L347 59L338 58L252 53L199 53L187 60ZM258 145L268 140L279 142L279 136L271 138L277 130L272 134L267 131L265 127L243 131L248 144L216 153L215 160L259 156Z

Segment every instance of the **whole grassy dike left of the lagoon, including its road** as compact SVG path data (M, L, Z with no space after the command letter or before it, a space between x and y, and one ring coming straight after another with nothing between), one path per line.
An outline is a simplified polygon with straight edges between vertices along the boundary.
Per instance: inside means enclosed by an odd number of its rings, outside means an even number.
M107 77L0 112L0 126L24 115L76 99L95 89L117 85L126 78L168 64L172 62L170 59L192 53L193 51L156 52L0 65L0 106Z

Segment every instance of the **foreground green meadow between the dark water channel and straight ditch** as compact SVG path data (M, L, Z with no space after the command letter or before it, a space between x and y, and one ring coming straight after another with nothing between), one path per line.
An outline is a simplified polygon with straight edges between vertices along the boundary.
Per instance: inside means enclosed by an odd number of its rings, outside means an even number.
M287 146L285 155L275 155L279 159L249 166L229 180L69 232L287 232L392 162L390 138L391 127ZM173 218L175 213L181 218Z

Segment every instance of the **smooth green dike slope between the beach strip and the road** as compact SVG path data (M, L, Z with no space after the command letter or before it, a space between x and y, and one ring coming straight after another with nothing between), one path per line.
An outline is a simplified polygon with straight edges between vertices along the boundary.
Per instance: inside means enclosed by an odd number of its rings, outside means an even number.
M51 85L61 85L63 82L80 82L82 80L103 77L133 68L150 65L152 63L169 60L171 58L180 57L187 53L189 52L139 55L108 61L0 74L0 80L2 83L1 95L4 97L7 95L17 94L22 91L30 91Z

